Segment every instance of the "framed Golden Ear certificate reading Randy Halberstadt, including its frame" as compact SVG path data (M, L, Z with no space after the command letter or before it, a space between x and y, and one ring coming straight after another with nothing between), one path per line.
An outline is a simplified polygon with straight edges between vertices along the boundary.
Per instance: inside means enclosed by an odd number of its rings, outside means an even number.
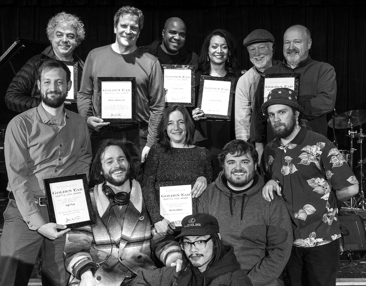
M97 77L97 97L98 118L104 122L135 123L135 77Z

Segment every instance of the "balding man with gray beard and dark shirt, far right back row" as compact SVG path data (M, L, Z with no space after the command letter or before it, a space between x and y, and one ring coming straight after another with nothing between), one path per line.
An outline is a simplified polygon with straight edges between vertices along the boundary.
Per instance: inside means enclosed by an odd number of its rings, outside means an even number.
M285 59L282 63L269 67L265 74L300 74L298 102L304 109L304 119L308 120L306 125L326 137L326 114L333 110L336 103L336 73L330 64L311 59L311 43L307 27L294 25L288 28L283 36ZM274 136L270 134L270 130L267 131L269 142Z

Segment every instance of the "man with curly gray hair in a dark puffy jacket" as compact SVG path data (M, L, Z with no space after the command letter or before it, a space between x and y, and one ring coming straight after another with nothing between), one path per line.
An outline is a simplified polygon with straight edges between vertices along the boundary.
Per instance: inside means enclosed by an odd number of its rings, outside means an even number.
M78 82L81 81L84 62L74 53L74 50L85 37L83 22L75 15L61 12L49 20L46 32L51 45L28 60L8 87L5 103L11 111L24 112L40 105L42 100L37 88L38 69L46 60L78 62ZM78 112L76 104L65 105L65 107Z

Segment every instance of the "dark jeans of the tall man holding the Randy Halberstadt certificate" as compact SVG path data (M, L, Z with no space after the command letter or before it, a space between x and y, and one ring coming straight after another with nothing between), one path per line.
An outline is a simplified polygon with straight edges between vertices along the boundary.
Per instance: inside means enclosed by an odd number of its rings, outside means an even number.
M141 167L141 154L142 149L145 147L147 142L147 126L142 128L134 128L123 132L116 132L113 130L102 128L97 132L93 132L90 135L91 150L93 157L97 151L100 142L107 138L113 138L122 140L123 145L127 148L127 151L131 155L132 163L138 171L137 181L142 183L143 170Z

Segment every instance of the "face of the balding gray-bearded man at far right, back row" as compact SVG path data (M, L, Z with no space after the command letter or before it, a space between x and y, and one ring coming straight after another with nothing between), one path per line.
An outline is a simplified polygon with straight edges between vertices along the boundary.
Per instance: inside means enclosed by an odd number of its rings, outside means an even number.
M287 63L296 67L309 55L311 39L302 27L290 27L283 36L283 55Z

